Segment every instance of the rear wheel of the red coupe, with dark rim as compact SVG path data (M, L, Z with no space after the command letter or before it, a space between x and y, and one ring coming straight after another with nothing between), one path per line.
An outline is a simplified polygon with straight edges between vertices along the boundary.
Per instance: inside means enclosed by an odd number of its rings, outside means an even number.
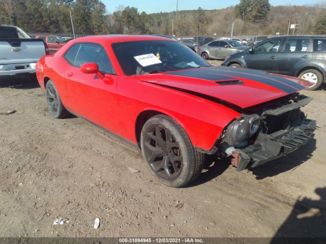
M55 118L65 118L70 115L67 109L63 106L59 97L58 90L55 84L49 80L45 86L46 103L49 111Z

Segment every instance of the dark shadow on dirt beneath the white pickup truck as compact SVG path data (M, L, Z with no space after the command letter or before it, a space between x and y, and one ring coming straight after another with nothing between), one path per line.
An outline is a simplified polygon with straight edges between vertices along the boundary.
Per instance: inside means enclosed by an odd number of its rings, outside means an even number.
M0 88L33 89L40 87L35 76L12 76L0 78Z

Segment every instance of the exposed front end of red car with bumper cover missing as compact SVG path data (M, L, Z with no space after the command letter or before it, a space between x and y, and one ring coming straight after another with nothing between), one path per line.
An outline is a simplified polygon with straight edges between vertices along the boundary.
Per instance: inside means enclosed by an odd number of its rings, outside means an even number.
M286 101L287 99L287 101ZM276 103L256 106L232 121L216 146L221 158L230 158L237 171L257 167L285 156L312 138L314 120L300 110L312 99L292 94Z

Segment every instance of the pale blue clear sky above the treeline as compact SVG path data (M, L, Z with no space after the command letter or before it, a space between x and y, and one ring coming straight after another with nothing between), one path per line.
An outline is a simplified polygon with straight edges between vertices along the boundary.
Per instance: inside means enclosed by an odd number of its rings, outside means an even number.
M176 10L177 0L102 0L106 5L106 11L113 13L117 6L123 5L124 7L135 7L141 13L145 11L147 14L158 12L171 12ZM231 5L236 5L239 0L179 0L179 10L194 10L201 7L205 10L223 9ZM313 5L321 0L269 0L273 6L278 5Z

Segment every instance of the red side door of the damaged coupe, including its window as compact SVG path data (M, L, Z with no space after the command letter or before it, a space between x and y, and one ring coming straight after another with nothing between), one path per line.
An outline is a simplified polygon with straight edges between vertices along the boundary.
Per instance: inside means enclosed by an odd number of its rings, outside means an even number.
M72 53L69 53L70 50ZM94 43L75 44L64 58L69 64L64 76L67 100L72 112L119 133L119 125L114 119L117 109L117 76L104 47ZM85 63L96 63L106 78L102 80L96 74L83 73L80 66Z

